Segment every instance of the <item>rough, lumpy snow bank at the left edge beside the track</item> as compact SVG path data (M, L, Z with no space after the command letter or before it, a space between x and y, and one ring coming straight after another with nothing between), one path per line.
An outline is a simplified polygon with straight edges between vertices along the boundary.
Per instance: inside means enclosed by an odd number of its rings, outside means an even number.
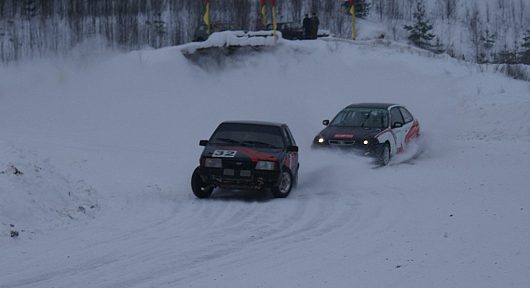
M0 142L0 237L29 237L75 220L93 218L97 193L56 171L49 159Z

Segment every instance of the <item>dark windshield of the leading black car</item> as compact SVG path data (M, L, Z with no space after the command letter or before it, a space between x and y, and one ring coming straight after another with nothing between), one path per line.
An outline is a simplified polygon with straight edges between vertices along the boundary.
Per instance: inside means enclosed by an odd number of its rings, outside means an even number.
M284 147L280 127L223 123L210 139L211 144L281 149Z

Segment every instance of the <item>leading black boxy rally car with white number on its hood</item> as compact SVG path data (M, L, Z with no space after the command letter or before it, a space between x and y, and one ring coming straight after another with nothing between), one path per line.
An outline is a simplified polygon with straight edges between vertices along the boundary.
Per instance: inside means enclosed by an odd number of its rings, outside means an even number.
M298 146L286 124L223 122L199 144L205 147L191 177L198 198L210 197L216 187L270 188L284 198L298 180Z

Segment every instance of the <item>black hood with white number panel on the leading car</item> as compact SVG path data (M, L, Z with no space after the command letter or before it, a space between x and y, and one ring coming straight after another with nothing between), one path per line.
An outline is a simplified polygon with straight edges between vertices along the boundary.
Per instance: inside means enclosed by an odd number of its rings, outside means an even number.
M202 152L202 157L221 158L234 161L278 161L283 151L281 149L256 148L247 146L208 145Z

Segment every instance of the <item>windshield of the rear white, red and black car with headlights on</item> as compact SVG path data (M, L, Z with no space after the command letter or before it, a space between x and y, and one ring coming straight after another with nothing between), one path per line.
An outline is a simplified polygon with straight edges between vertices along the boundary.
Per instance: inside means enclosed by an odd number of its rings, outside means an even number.
M335 116L330 126L386 128L388 111L377 108L346 108Z

